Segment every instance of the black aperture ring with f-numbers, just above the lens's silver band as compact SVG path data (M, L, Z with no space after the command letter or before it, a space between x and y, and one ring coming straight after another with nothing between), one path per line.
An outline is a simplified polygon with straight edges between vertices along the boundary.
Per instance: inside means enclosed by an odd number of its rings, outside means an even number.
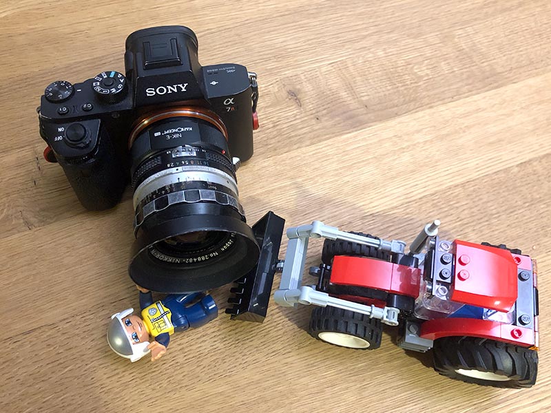
M180 146L158 153L157 156L148 158L147 161L143 162L132 173L132 188L136 189L149 176L167 168L176 167L211 167L219 169L231 176L233 180L237 180L236 168L225 156L211 149Z

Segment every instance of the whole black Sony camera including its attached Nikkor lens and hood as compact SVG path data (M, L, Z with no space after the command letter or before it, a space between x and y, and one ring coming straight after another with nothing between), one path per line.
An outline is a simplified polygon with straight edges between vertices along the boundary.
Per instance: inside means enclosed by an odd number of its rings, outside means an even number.
M253 154L257 99L256 74L201 66L196 35L183 26L130 34L125 74L46 87L45 158L63 167L81 204L114 207L132 185L136 284L191 293L256 266L262 242L246 224L236 169Z

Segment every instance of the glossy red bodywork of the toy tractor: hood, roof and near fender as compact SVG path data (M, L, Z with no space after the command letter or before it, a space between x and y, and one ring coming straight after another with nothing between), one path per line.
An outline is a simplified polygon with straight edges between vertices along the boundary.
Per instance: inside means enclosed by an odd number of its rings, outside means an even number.
M532 271L526 255L492 246L455 240L452 244L455 271L450 301L468 306L508 313L518 297L517 273ZM370 257L337 255L333 258L329 282L335 286L355 286L417 298L422 271L419 268ZM362 304L384 306L380 299L349 294L336 295ZM532 347L537 344L534 330L500 321L464 317L436 318L424 321L419 337L469 336L495 339Z

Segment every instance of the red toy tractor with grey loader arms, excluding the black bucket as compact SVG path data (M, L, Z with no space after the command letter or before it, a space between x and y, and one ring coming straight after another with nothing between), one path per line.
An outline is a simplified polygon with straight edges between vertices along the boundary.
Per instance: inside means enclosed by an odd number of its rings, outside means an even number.
M379 348L382 324L398 346L432 350L439 374L468 383L526 388L536 381L535 260L504 245L441 240L439 221L406 243L347 233L322 222L291 228L275 301L312 304L309 333L336 346ZM324 237L322 264L302 285L308 241Z

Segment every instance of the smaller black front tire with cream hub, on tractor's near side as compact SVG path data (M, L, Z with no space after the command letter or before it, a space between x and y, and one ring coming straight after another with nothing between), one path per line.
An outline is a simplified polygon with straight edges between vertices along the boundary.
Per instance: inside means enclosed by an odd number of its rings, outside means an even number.
M342 310L331 306L315 307L310 317L309 334L324 343L342 346L331 341L320 338L320 333L337 332L362 339L368 343L366 348L355 348L356 350L375 350L381 346L382 323L380 319L370 319L369 316L355 313L349 310Z

